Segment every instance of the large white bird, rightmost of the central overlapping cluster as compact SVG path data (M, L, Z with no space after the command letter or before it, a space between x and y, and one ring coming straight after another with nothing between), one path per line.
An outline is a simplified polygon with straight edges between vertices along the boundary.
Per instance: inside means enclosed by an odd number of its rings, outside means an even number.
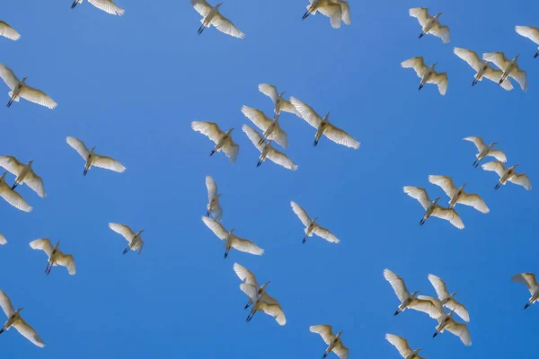
M323 118L309 105L303 101L299 101L294 97L290 97L290 102L296 107L296 110L301 114L301 117L305 121L316 128L316 135L314 135L314 146L318 144L320 137L326 136L335 144L342 144L347 147L357 150L359 143L352 136L349 136L344 130L339 127L333 126L330 123L330 112L328 112Z

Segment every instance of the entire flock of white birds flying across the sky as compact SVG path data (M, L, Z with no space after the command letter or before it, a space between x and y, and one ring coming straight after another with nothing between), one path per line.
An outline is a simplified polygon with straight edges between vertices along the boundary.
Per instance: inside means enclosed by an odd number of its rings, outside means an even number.
M190 1L195 10L202 16L200 21L201 25L198 31L199 34L206 28L214 26L218 31L224 32L227 35L240 39L244 38L244 33L240 31L233 22L220 13L220 6L222 4L212 6L208 4L206 0ZM121 9L111 0L88 0L88 2L106 13L115 15L122 15L125 13L125 10ZM309 0L309 2L310 4L307 5L307 11L303 16L304 20L309 17L309 15L322 13L324 16L330 18L331 26L333 28L340 28L341 22L344 22L347 25L351 23L348 2L344 0ZM77 4L82 3L83 0L75 0L72 4L72 8L75 8ZM437 13L437 15L431 16L429 15L428 9L424 7L410 9L410 15L417 18L420 22L420 38L429 34L437 36L442 39L444 43L450 41L449 28L439 22L441 14L442 13ZM539 44L538 28L531 26L517 26L516 31L518 34ZM0 36L15 41L21 38L21 35L15 31L13 27L3 21L0 21ZM520 84L524 91L526 91L526 72L517 66L519 55L512 60L509 60L508 57L505 57L501 52L485 53L482 58L474 51L465 48L455 48L454 52L456 56L462 58L476 71L472 83L473 85L482 81L482 78L485 77L490 81L499 83L503 89L509 91L513 88L508 80L508 77L511 77ZM535 53L535 57L537 56L539 56L539 51ZM492 67L491 64L494 64L499 69ZM413 57L402 62L402 67L413 68L420 77L419 89L421 89L425 83L436 83L438 91L444 95L447 89L447 74L438 73L435 70L435 66L437 66L437 63L434 63L432 66L426 66L423 57ZM2 77L4 83L11 89L11 92L9 92L10 100L7 103L7 107L12 106L13 102L20 101L21 98L40 104L49 109L55 109L57 107L57 103L53 101L49 95L28 85L26 83L27 77L23 77L22 80L19 79L9 67L2 64L0 64L0 77ZM359 143L353 136L350 136L346 131L340 127L336 127L329 121L330 111L328 111L325 116L321 116L304 101L297 100L292 96L286 100L284 98L285 92L278 92L277 88L269 83L261 83L259 85L259 91L270 97L273 102L273 116L270 117L261 109L254 109L248 106L243 106L241 109L243 115L246 118L249 118L252 124L261 131L259 132L246 124L242 127L243 133L251 140L258 152L261 153L257 166L260 166L262 162L268 159L287 170L297 170L298 166L287 156L287 154L273 145L273 143L278 144L283 150L287 148L287 132L279 123L279 117L282 112L287 112L298 118L302 118L316 129L314 145L317 145L320 138L325 136L336 144L358 149ZM210 152L210 156L214 153L222 152L230 159L230 162L234 163L236 161L239 153L239 145L234 142L232 137L234 127L224 131L214 122L193 121L191 123L191 128L204 136L208 136L208 138L215 144ZM490 156L496 159L496 161L482 164L483 170L494 171L498 174L499 181L495 187L496 189L501 185L505 185L507 182L515 183L528 190L532 188L531 182L526 174L519 174L515 171L518 163L511 167L506 167L504 165L504 163L507 162L507 158L505 153L494 148L497 143L487 145L479 136L465 137L464 140L472 142L477 147L478 153L475 155L476 159L475 162L473 162L474 167L478 167L485 157ZM95 146L89 150L81 140L72 136L66 137L66 143L75 149L75 151L83 158L84 176L92 169L92 167L116 172L123 172L126 170L126 168L115 159L95 153ZM0 167L3 167L5 170L4 174L0 177L0 197L3 197L10 205L24 212L31 212L32 207L17 191L15 191L17 186L26 184L36 192L38 196L46 197L43 180L33 170L32 163L33 161L27 163L21 162L14 156L0 156ZM15 177L13 182L10 182L13 183L13 185L8 184L7 182L6 175L8 172ZM445 219L458 229L463 229L464 223L454 208L456 204L473 206L473 208L483 214L490 212L489 207L482 200L482 197L477 194L464 192L466 183L457 187L451 178L441 175L430 175L429 182L442 188L446 193L446 196L449 197L447 207L438 204L440 197L431 200L425 188L410 186L403 188L404 192L410 197L417 199L426 211L420 224L425 223L430 216L435 216ZM208 188L208 211L206 215L201 217L201 220L219 240L225 241L225 258L227 258L232 249L250 253L252 255L262 255L264 250L257 244L236 236L234 228L231 230L225 228L221 223L223 218L223 208L219 202L221 194L217 193L216 181L208 176L206 178L206 186ZM290 202L290 206L305 227L304 243L308 237L312 237L314 234L331 243L340 242L332 232L317 223L318 217L312 218L307 214L304 208L294 201ZM109 223L109 227L111 231L119 233L128 241L128 247L123 251L124 254L128 253L129 250L135 250L140 254L144 247L144 241L141 238L141 233L144 232L143 230L134 232L128 225L120 223ZM0 244L4 245L6 242L4 236L0 234ZM71 254L62 252L59 249L59 244L60 241L57 241L56 244L53 245L52 241L49 239L42 238L31 241L30 247L32 250L43 250L47 255L48 262L45 269L46 274L50 273L52 267L61 266L66 267L68 274L73 276L75 275L75 258ZM248 297L248 302L244 308L248 309L249 307L252 307L246 321L252 320L257 311L262 311L272 316L279 325L285 325L287 320L283 309L279 302L267 293L267 286L270 282L268 281L264 285L259 285L255 275L249 269L238 263L234 263L233 269L242 282L240 289ZM437 334L447 330L455 336L460 337L465 346L472 345L472 339L466 324L458 322L454 318L455 313L464 320L464 322L469 322L469 313L464 304L455 300L456 293L450 293L446 283L441 278L431 274L428 276L429 282L433 285L437 294L436 297L418 295L419 291L411 293L407 289L402 278L389 269L384 269L384 278L390 285L392 285L394 293L401 302L397 311L394 312L394 315L397 315L406 309L425 312L429 314L429 317L437 320L436 331L433 337L436 337ZM531 293L531 297L528 302L526 302L525 308L529 307L532 303L539 301L539 285L537 284L534 274L521 273L512 276L511 279L517 283L526 285ZM2 290L0 290L0 306L7 316L7 321L5 321L4 327L0 329L0 333L13 327L17 329L22 336L28 338L34 345L40 347L45 346L45 342L40 338L37 332L22 319L22 307L15 311L9 297ZM447 312L445 308L449 310L449 312ZM342 330L335 334L330 325L324 324L311 326L310 331L319 334L327 345L323 357L326 357L331 352L340 356L341 359L347 359L349 357L349 349L344 346L341 341ZM393 334L386 334L385 338L389 343L396 347L402 357L406 359L422 358L419 355L422 349L412 349L405 338Z

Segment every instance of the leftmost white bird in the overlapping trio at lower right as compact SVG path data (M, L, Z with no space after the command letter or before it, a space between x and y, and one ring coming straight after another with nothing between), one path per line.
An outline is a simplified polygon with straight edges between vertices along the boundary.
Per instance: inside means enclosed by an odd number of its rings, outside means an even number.
M393 287L393 291L401 301L401 304L393 315L397 315L401 311L405 311L407 308L410 308L415 311L427 313L429 314L429 317L433 319L440 317L440 310L437 308L436 303L433 302L435 298L427 295L418 295L420 291L410 293L402 278L387 268L384 269L384 278Z

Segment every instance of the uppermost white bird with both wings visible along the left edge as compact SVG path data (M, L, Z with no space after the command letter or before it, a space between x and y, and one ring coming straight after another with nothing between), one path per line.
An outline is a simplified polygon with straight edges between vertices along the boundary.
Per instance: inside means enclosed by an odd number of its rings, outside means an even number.
M13 101L18 102L21 98L45 106L49 109L55 109L57 107L57 103L52 100L47 93L26 84L28 76L19 80L19 78L13 74L11 68L0 64L0 77L2 77L4 83L12 90L8 93L10 99L7 102L7 107L11 107Z

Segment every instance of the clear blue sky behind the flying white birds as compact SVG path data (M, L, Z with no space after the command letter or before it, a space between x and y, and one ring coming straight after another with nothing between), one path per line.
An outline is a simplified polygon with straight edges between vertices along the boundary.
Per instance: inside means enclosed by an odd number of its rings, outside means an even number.
M325 345L309 332L314 324L343 329L351 357L398 358L385 333L407 337L429 358L535 358L539 308L522 308L524 285L510 276L539 271L536 261L536 190L509 184L494 191L497 177L473 169L473 144L464 136L499 142L508 164L520 162L535 184L536 96L539 74L534 44L515 25L537 25L539 5L481 2L351 2L352 25L331 29L328 18L304 22L305 1L228 0L221 11L243 32L243 40L215 29L197 36L199 14L187 0L119 0L121 18L92 5L71 10L69 0L9 2L2 20L22 34L0 38L0 62L58 103L49 110L27 101L0 109L1 154L34 169L45 182L41 199L18 188L34 207L28 215L0 201L0 288L47 346L40 349L10 330L0 336L5 358L317 357ZM414 6L443 11L451 43L417 39ZM529 90L505 92L482 81L454 47L478 53L521 53ZM423 56L449 76L445 97L434 85L418 93L420 79L400 63ZM273 83L325 114L361 143L358 151L323 138L290 114L281 116L289 136L287 154L299 169L265 162L241 132L250 124L242 105L271 113L258 83ZM515 86L517 83L513 82ZM7 86L0 86L8 101ZM240 144L232 166L212 144L190 129L192 120L236 127ZM9 135L8 135L9 134ZM122 162L118 174L93 169L66 144L75 136L98 153ZM466 228L430 219L402 193L420 186L443 195L429 174L468 183L490 207L456 209ZM200 221L206 212L205 177L223 193L223 223L266 250L261 257L232 251ZM13 181L13 176L9 177ZM294 200L341 240L317 238L301 244L303 227ZM447 198L442 197L446 203ZM122 256L126 242L107 226L145 229L145 250ZM34 239L61 240L75 256L77 274L55 267L30 249ZM244 322L245 297L234 262L251 269L281 303L287 325L257 314ZM449 334L432 338L436 322L405 311L385 282L385 267L409 289L432 295L429 273L446 280L467 306L473 346Z

